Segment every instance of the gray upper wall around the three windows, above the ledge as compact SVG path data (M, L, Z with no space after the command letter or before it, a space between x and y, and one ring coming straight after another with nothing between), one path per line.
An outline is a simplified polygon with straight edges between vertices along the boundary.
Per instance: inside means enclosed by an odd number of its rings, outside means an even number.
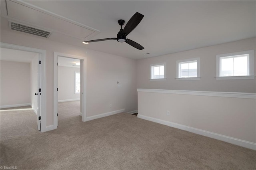
M216 80L216 55L255 49L255 38L137 60L137 88L195 91L256 92L255 79ZM171 46L170 46L171 48ZM176 60L200 57L200 80L177 81ZM256 61L256 60L255 60ZM150 81L150 64L166 62L166 81ZM256 64L255 64L256 65ZM256 73L255 73L256 75Z

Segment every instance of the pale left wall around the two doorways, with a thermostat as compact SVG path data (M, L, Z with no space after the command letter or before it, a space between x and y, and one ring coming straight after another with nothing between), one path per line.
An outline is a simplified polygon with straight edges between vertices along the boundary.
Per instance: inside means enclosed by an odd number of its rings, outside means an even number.
M137 109L136 61L133 59L9 30L1 30L1 42L46 50L46 126L53 125L54 51L87 58L88 117L120 109L127 112ZM116 81L122 88L117 88Z

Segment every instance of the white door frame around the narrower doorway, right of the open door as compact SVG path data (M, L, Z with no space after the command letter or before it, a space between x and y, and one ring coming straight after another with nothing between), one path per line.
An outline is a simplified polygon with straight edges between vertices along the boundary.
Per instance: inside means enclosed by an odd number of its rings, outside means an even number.
M71 54L65 54L65 53L59 53L54 52L54 67L53 67L53 109L54 109L54 115L53 115L53 125L54 128L57 128L58 126L58 57L68 57L68 58L74 58L74 59L80 59L82 61L82 73L83 73L83 79L82 79L82 97L80 95L80 100L82 100L82 121L86 121L86 70L87 70L87 58L86 57L80 57L77 55L71 55ZM81 66L81 65L80 65ZM81 68L80 68L81 71ZM81 83L81 82L80 82ZM81 102L80 102L81 103ZM80 106L81 107L81 106Z

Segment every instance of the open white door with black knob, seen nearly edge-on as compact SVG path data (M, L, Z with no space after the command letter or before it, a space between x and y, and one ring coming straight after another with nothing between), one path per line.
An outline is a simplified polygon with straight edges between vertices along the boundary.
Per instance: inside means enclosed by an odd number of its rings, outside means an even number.
M42 67L41 67L41 56L39 56L39 61L38 61L38 73L37 73L37 77L38 77L38 89L37 89L37 93L35 93L35 95L38 96L38 104L37 104L37 128L38 130L41 130L41 71L42 71Z

